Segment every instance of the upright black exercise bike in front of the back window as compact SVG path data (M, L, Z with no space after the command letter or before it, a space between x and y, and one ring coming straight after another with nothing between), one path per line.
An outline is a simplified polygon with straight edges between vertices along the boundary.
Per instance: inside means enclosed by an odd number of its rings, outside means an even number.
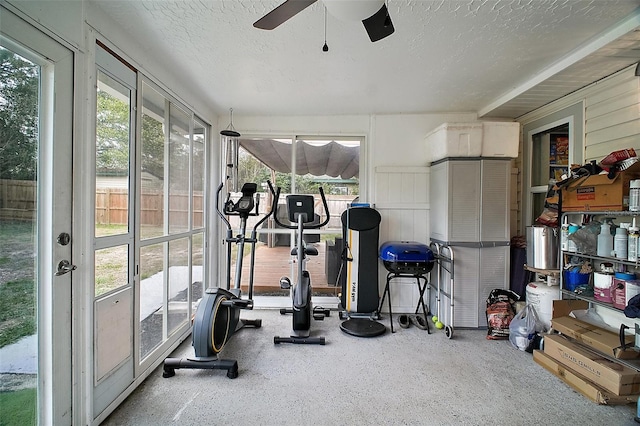
M299 344L316 344L324 345L324 337L310 337L311 318L315 320L323 320L328 317L330 312L328 309L321 307L314 308L311 303L312 287L311 276L306 270L308 256L317 256L318 249L315 247L307 247L304 242L304 231L307 229L318 229L329 223L330 214L327 199L324 196L322 187L319 188L322 204L327 216L324 222L313 224L315 219L314 199L312 195L287 195L287 210L289 221L296 225L288 225L278 220L278 199L280 198L280 188L278 188L276 196L273 199L273 217L278 225L283 228L297 229L296 246L291 250L291 255L296 256L298 265L298 276L296 283L291 286L291 280L288 277L280 279L280 288L291 290L292 307L281 309L281 314L293 315L293 330L289 337L275 336L273 343L299 343Z

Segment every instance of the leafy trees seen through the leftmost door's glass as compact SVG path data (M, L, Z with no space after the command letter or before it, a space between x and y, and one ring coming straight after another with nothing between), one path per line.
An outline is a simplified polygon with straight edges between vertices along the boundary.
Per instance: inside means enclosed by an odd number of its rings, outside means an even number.
M0 47L0 179L37 177L39 72Z

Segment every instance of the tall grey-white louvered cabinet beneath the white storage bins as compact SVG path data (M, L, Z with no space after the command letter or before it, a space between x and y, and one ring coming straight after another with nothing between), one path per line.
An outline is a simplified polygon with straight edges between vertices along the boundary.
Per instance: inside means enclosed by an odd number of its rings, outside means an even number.
M490 291L509 288L510 180L509 159L446 158L431 165L430 238L455 253L454 318L445 324L485 326Z

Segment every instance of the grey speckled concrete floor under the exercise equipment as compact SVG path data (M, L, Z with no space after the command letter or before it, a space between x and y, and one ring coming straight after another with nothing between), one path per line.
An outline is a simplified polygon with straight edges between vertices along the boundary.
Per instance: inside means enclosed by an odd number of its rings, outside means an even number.
M416 327L376 338L340 331L337 313L313 324L325 346L274 345L291 318L254 310L262 328L236 334L223 371L159 367L104 425L634 425L636 407L601 406L573 391L508 341L483 330L427 334ZM388 319L382 320L387 326ZM193 354L185 341L175 356Z

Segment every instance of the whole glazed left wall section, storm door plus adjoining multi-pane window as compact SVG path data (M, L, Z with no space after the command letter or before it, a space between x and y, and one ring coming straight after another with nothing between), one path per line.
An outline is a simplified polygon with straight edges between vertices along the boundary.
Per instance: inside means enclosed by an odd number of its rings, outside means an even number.
M203 290L209 126L96 49L95 414L189 331Z

